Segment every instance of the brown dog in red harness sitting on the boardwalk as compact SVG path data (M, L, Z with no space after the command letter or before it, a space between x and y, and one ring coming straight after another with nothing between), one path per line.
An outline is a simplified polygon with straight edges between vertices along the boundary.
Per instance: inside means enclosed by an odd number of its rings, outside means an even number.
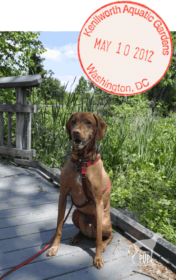
M106 126L103 119L90 112L72 114L66 124L67 133L73 142L73 155L64 165L60 175L57 230L53 245L47 251L47 256L54 256L57 253L62 235L67 193L70 192L72 202L76 206L72 221L80 230L72 238L71 244L79 242L83 235L96 238L93 264L98 269L104 264L102 251L106 250L106 246L113 239L109 202L110 180L96 145L96 140L100 141L104 137ZM103 236L104 241L102 241Z

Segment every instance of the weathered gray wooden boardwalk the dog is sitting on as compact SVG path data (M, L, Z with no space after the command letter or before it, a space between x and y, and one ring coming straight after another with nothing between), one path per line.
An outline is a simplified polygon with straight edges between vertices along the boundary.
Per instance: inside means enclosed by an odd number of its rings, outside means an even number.
M0 277L38 253L52 239L57 224L58 198L58 185L49 182L40 172L0 161ZM66 214L70 206L68 197ZM113 233L114 238L103 253L104 268L98 270L93 266L94 240L85 238L77 245L70 245L77 232L70 214L63 226L56 256L46 257L50 245L41 255L3 279L149 279L132 272L139 270L138 262L132 264L132 256L128 255L130 243L122 233Z

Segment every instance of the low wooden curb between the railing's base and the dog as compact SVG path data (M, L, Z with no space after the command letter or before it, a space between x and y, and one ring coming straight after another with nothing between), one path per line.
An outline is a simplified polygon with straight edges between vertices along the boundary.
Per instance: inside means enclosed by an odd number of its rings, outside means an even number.
M54 170L52 170L51 168L47 167L46 165L44 165L39 161L15 158L15 163L19 165L38 168L40 171L42 171L44 174L46 174L48 177L50 177L52 180L54 180L56 183L59 184L59 177L60 177L59 174L57 174L56 172L54 172Z

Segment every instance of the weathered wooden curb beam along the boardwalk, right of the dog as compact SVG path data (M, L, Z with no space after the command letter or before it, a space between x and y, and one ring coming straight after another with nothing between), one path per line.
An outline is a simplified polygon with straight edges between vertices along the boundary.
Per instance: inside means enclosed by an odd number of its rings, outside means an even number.
M130 235L134 236L137 240L140 241L152 239L152 237L155 235L153 231L150 231L141 224L128 218L126 215L116 210L115 208L110 207L110 209L111 222L116 224L118 227L120 227ZM156 240L154 252L162 256L164 259L167 259L172 264L176 265L176 246L165 240L164 238L159 237Z

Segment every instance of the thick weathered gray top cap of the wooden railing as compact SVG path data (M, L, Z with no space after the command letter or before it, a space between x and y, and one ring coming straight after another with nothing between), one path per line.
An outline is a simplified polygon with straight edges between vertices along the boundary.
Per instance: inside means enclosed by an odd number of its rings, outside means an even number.
M0 78L0 88L39 86L41 82L41 75L3 77Z

